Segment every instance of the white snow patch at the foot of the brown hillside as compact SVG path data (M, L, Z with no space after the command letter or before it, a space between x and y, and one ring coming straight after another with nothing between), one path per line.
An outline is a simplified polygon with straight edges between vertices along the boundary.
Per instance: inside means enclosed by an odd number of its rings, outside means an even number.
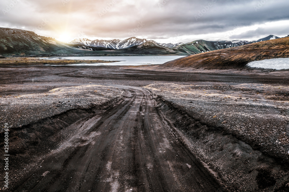
M289 69L289 58L265 59L262 61L253 61L247 65L264 69Z

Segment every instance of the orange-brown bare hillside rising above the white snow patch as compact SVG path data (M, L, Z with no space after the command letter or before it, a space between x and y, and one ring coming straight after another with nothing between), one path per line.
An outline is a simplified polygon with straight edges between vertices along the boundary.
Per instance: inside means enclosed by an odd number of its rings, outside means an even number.
M289 58L289 37L180 58L160 68L244 69L251 61Z

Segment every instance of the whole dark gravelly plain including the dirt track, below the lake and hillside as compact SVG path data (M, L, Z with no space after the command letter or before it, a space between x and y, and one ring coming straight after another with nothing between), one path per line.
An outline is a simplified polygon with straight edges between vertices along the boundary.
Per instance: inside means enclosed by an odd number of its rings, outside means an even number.
M1 191L288 191L287 73L1 66Z

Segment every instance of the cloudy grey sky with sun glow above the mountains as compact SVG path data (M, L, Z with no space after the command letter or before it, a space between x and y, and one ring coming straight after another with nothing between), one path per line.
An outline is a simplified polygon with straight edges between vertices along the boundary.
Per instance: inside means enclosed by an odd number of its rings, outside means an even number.
M1 0L0 27L62 41L138 37L159 43L289 34L288 0Z

